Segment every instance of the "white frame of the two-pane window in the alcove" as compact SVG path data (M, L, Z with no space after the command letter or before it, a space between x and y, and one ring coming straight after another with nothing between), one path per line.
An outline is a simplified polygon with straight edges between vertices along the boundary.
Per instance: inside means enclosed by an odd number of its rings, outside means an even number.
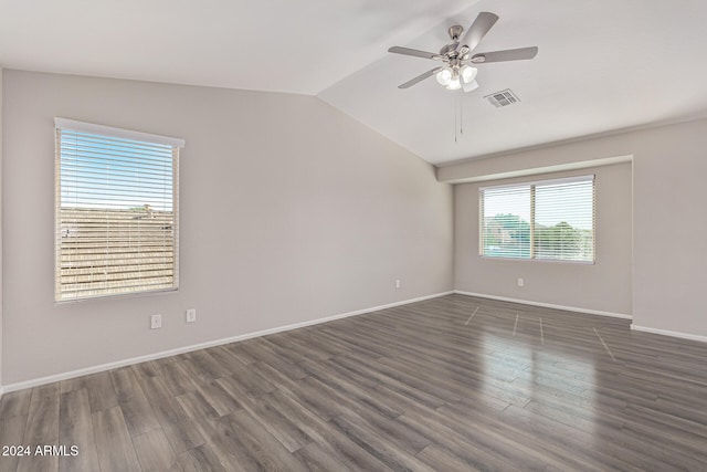
M571 260L571 259L560 259L560 258L536 258L536 248L535 248L535 235L536 235L536 198L535 198L535 188L537 186L547 186L547 185L561 185L561 183L572 183L580 181L591 181L592 188L592 210L591 210L591 243L592 243L592 259L591 260ZM520 188L529 188L530 195L530 216L529 216L529 231L530 231L530 240L529 240L529 256L511 256L511 255L488 255L484 253L485 241L484 241L484 230L485 230L485 216L484 216L484 192L487 190L513 190ZM569 264L595 264L597 262L597 176L595 175L583 175L583 176L574 176L574 177L566 177L566 178L557 178L557 179L545 179L545 180L532 180L532 181L524 181L517 183L507 183L500 186L486 186L479 187L478 189L478 254L483 259L488 260L510 260L510 261L539 261L539 262L553 262L553 263L569 263Z

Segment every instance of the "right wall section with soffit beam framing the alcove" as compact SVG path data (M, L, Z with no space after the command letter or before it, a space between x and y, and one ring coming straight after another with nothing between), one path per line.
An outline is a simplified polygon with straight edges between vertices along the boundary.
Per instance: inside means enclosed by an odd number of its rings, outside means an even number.
M437 178L455 181L625 155L633 155L633 323L707 336L707 256L701 251L707 120L467 161L440 168Z

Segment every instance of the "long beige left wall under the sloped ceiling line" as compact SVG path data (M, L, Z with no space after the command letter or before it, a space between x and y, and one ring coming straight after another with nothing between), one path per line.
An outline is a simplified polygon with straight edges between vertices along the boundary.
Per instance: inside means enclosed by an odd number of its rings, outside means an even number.
M20 71L3 92L4 385L453 289L451 186L316 97ZM187 140L178 293L54 303L55 116Z

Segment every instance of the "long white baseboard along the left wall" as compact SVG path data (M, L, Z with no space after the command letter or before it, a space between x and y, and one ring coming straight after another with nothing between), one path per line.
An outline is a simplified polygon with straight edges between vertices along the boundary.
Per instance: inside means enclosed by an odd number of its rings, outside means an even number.
M435 294L432 294L432 295L425 295L425 296L420 296L420 297L416 297L416 298L404 300L402 302L388 303L386 305L373 306L373 307L363 308L363 310L357 310L355 312L341 313L341 314L338 314L338 315L331 315L331 316L326 316L326 317L323 317L323 318L310 319L310 321L307 321L307 322L295 323L295 324L292 324L292 325L278 326L278 327L275 327L275 328L263 329L263 331L258 331L258 332L254 332L254 333L246 333L246 334L242 334L242 335L238 335L238 336L231 336L231 337L226 337L226 338L209 340L209 342L200 343L200 344L192 344L190 346L178 347L176 349L162 350L162 352L159 352L159 353L147 354L145 356L130 357L128 359L117 360L115 363L101 364L101 365L97 365L97 366L85 367L85 368L82 368L82 369L71 370L71 371L63 373L63 374L54 374L54 375L51 375L51 376L40 377L40 378L36 378L36 379L31 379L31 380L24 380L24 381L20 381L20 382L17 382L17 384L9 384L9 385L0 387L0 396L2 395L2 391L9 394L11 391L23 390L25 388L38 387L38 386L46 385L46 384L53 384L55 381L67 380L70 378L82 377L82 376L85 376L85 375L102 373L102 371L110 370L110 369L117 369L119 367L130 366L133 364L140 364L140 363L145 363L145 361L148 361L148 360L161 359L163 357L176 356L178 354L183 354L183 353L190 353L192 350L199 350L199 349L204 349L204 348L208 348L208 347L221 346L223 344L236 343L239 340L245 340L245 339L251 339L251 338L254 338L254 337L266 336L268 334L283 333L283 332L287 332L287 331L291 331L291 329L302 328L302 327L305 327L305 326L318 325L318 324L321 324L321 323L333 322L335 319L347 318L349 316L357 316L357 315L362 315L362 314L366 314L366 313L378 312L380 310L392 308L394 306L409 305L411 303L422 302L422 301L431 300L431 298L437 298L440 296L450 295L452 293L454 293L454 292L450 291L450 292L435 293Z

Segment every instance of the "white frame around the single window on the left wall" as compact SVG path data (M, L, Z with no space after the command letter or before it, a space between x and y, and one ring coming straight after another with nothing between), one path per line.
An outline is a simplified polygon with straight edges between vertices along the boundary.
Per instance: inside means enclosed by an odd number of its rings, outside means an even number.
M55 125L55 293L54 300L56 303L104 298L114 296L126 296L137 294L149 294L157 292L170 292L179 289L179 150L184 146L184 140L168 136L154 135L148 133L135 132L123 128L115 128L110 126L97 125L93 123L78 122L74 119L54 118ZM171 283L162 284L169 286L160 286L158 289L148 289L147 285L139 285L139 281L143 279L134 279L138 282L135 286L129 287L104 287L104 289L76 289L67 290L65 285L68 282L62 282L62 140L61 134L64 133L81 133L89 134L94 136L104 137L106 139L129 139L134 141L140 141L144 145L161 145L168 146L172 149L171 158L171 244L172 256L171 263ZM136 166L139 167L139 166ZM169 193L167 193L169 195ZM112 195L115 197L115 195ZM146 209L146 212L151 217L151 210ZM108 233L109 230L106 231ZM109 240L109 238L108 238ZM106 253L108 253L108 249ZM104 260L107 263L108 255ZM64 264L65 265L65 264ZM64 268L66 269L66 268ZM144 280L143 280L144 281ZM107 282L106 282L107 285ZM133 289L133 290L129 290Z

